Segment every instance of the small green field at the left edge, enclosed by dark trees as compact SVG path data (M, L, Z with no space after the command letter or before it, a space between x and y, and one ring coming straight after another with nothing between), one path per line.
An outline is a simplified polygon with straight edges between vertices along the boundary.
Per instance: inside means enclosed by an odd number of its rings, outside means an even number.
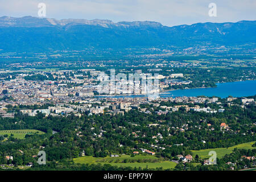
M24 139L27 134L28 135L32 135L32 134L42 135L42 134L44 134L44 132L39 131L39 130L0 130L0 136L6 135L6 134L8 135L8 137L10 137L10 135L13 134L14 138Z

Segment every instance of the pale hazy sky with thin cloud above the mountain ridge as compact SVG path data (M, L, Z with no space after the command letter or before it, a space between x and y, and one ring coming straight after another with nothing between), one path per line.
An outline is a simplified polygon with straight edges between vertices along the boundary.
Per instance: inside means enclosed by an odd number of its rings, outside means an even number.
M256 20L256 0L0 0L0 16L38 16L40 2L46 3L46 17L56 19L150 20L166 26ZM209 3L216 3L217 17L208 15Z

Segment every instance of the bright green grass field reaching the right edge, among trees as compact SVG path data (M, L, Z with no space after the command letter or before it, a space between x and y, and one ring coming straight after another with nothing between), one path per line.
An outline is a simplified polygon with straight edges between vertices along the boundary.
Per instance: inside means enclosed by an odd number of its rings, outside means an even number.
M202 159L209 159L209 151L216 151L217 153L217 158L221 159L223 158L226 154L230 154L232 153L232 151L234 150L234 148L237 149L256 149L256 147L252 147L252 145L255 143L254 142L248 142L248 143L241 143L241 144L237 144L236 146L233 147L228 147L228 148L208 148L208 149L204 149L204 150L192 150L192 156L193 158L195 158L196 154L199 156L199 158Z

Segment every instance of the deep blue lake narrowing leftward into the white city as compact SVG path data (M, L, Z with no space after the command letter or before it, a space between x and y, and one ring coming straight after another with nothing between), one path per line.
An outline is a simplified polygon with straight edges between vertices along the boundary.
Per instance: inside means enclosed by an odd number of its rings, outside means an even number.
M173 90L166 93L159 94L160 97L196 97L196 96L207 96L207 97L221 97L225 98L228 96L233 97L245 97L254 96L256 94L256 80L249 81L236 81L216 84L215 88L199 88L199 89L184 89L184 90ZM144 95L131 95L131 96L110 96L115 98L122 97L145 97Z

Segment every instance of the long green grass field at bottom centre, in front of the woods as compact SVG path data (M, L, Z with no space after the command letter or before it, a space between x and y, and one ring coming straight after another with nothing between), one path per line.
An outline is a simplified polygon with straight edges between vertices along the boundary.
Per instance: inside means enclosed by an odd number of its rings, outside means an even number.
M123 163L123 160L127 160L127 163ZM140 161L141 162L138 162ZM156 158L155 156L151 155L135 155L131 157L129 155L121 155L119 157L110 157L107 156L106 158L94 158L93 156L82 156L79 158L73 159L75 163L80 164L110 164L112 166L118 167L141 167L141 168L160 168L163 169L170 169L176 166L175 162L171 161L164 161L163 159Z

